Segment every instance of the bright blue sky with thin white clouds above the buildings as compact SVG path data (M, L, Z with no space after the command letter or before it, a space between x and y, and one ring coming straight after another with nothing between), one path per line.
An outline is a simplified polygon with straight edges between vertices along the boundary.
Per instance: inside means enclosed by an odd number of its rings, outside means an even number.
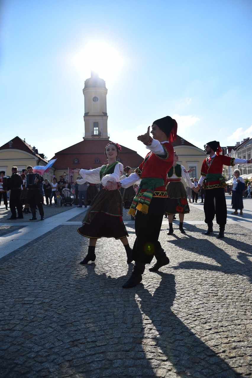
M81 141L92 60L110 139L142 156L137 136L166 115L199 148L252 136L251 0L1 5L1 145L18 135L51 158Z

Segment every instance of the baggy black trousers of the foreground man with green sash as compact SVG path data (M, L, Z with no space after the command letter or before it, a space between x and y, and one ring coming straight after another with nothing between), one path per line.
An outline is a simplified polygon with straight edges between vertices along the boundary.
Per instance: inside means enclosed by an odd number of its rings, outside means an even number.
M152 198L148 214L136 212L135 232L136 240L133 246L132 257L135 261L150 264L154 253L161 245L158 241L166 198Z

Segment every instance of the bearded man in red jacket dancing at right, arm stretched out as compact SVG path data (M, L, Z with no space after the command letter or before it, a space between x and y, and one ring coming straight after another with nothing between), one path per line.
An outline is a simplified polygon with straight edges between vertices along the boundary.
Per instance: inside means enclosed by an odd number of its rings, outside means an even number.
M216 222L220 226L218 238L223 238L227 223L227 204L224 192L224 187L227 184L222 176L223 165L249 164L252 163L252 159L246 160L220 155L222 149L220 143L216 141L208 142L205 152L209 156L203 161L200 172L201 178L193 190L198 192L202 184L205 189L204 212L205 223L208 226L205 235L213 232L213 218L216 215Z

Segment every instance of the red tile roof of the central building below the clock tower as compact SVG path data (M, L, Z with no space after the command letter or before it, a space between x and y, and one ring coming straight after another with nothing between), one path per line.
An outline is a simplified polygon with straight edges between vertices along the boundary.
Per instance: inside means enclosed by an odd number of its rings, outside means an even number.
M102 164L107 163L107 158L104 155L108 139L84 139L83 141L67 147L64 150L56 152L52 159L56 159L53 167L56 169L67 168L97 168ZM138 155L127 147L121 146L122 151L119 154L121 163L125 166L136 168L142 163L142 156ZM74 164L74 159L78 159L79 163ZM99 159L99 163L95 163Z

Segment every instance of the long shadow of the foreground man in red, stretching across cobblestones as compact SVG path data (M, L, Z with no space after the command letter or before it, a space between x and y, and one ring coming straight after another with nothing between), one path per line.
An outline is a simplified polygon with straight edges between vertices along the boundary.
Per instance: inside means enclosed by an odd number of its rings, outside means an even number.
M159 349L155 347L155 353L158 355L161 351L167 357L164 363L166 367L179 377L236 377L235 371L173 313L171 307L176 297L175 276L163 272L158 274L162 279L153 296L143 286L136 287L136 293L141 299L141 311L150 318L158 333L154 335ZM185 305L189 302L190 299L185 300ZM192 323L198 321L192 311L190 316ZM152 335L148 337L151 339Z

